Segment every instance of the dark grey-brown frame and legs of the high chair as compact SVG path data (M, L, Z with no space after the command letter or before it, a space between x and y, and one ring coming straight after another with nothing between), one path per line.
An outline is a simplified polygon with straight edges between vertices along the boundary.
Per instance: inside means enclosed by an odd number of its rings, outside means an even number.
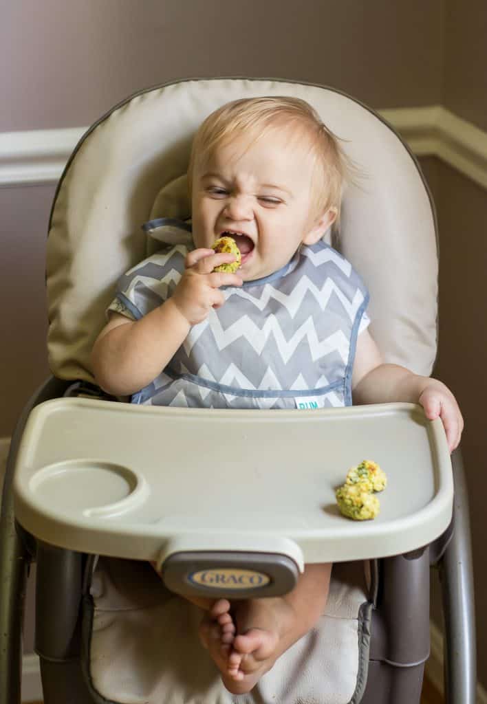
M101 118L78 144L75 153L97 125L117 108L145 93L131 96ZM75 153L61 178L55 202ZM409 154L417 165L417 160ZM418 165L417 168L419 171ZM427 190L426 184L424 187ZM20 704L23 605L32 560L37 561L35 647L41 659L45 702L61 704L69 700L73 704L87 704L97 701L85 689L80 661L80 607L85 567L90 558L36 542L16 522L11 491L16 458L31 410L39 403L63 396L73 381L75 378L66 377L61 371L32 396L13 434L8 455L0 522L0 704ZM369 605L371 636L362 634L364 638L371 638L370 660L362 670L365 673L368 669L369 678L357 703L406 704L419 700L424 662L429 655L431 565L440 570L443 589L445 700L448 704L473 704L475 701L474 590L468 500L460 449L452 455L452 466L455 502L448 531L430 546L374 562L375 589ZM58 590L55 598L54 586ZM56 629L52 627L54 621Z

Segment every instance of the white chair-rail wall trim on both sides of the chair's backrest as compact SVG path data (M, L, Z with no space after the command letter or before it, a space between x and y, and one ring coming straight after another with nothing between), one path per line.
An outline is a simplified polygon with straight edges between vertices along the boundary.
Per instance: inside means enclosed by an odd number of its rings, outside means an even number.
M436 156L487 188L487 132L440 105L378 112L417 156ZM0 187L55 183L86 130L0 132Z

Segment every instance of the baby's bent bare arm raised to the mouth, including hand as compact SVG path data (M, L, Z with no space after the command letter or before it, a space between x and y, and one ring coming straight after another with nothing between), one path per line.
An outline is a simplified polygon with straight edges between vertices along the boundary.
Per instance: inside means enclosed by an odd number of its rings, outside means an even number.
M195 249L187 255L185 271L173 295L161 306L140 320L112 313L92 350L92 369L101 389L128 396L150 384L192 325L202 322L211 308L223 305L219 287L242 285L236 274L213 271L234 259L231 254L215 254L212 249Z

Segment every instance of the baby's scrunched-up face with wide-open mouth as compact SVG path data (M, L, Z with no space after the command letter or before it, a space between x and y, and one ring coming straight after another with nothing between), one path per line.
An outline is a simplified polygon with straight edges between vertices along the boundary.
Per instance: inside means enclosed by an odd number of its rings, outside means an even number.
M229 234L242 254L238 274L260 279L288 263L302 242L324 232L310 219L312 156L289 134L218 146L193 174L192 222L197 247Z

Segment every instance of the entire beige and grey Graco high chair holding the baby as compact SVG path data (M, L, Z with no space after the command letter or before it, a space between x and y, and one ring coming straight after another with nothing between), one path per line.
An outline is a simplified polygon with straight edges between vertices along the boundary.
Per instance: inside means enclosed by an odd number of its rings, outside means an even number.
M431 565L443 585L446 700L474 702L467 493L439 420L410 404L133 406L94 385L90 351L116 281L160 246L141 225L190 218L192 135L221 104L267 95L308 101L344 140L362 177L345 192L340 232L325 237L369 288L383 358L431 373L436 216L416 159L374 111L326 87L229 78L166 84L115 106L76 146L51 211L53 377L25 406L8 458L0 704L20 703L32 560L45 704L418 703ZM356 523L339 515L333 490L364 458L389 485L379 517ZM178 594L285 593L305 562L325 561L334 566L319 624L251 693L230 694L197 639L201 610Z

